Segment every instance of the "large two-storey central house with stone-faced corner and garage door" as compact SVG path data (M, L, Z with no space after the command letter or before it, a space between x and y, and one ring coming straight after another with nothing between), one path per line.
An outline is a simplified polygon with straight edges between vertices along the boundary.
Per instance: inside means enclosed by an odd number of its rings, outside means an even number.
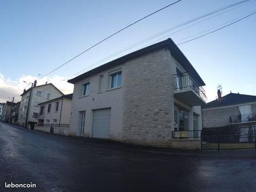
M205 83L170 38L68 82L70 135L179 148L174 130L202 129Z

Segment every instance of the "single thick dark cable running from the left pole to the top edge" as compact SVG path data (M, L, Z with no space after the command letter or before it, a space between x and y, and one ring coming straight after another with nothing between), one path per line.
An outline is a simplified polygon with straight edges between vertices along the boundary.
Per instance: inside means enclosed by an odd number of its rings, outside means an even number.
M174 3L171 3L171 4L169 4L169 5L165 6L165 7L161 8L161 9L159 9L159 10L157 10L157 11L153 12L153 13L150 13L150 14L146 15L145 17L143 17L143 18L141 18L141 19L139 19L139 20L137 20L137 21L135 21L135 22L131 23L130 25L128 25L128 26L126 26L126 27L124 27L124 28L122 28L122 29L120 29L120 30L116 31L114 34L111 34L111 35L109 35L108 37L106 37L106 38L102 39L100 42L98 42L98 43L96 43L96 44L92 45L91 47L89 47L88 49L86 49L85 51L83 51L82 53L79 53L78 55L76 55L76 56L75 56L75 57L73 57L72 59L70 59L70 60L68 60L67 62L63 63L63 64L62 64L62 65L60 65L59 67L57 67L57 68L53 69L52 71L50 71L49 73L47 73L46 75L42 76L42 77L41 77L41 78L39 78L39 79L42 79L42 78L44 78L44 77L45 77L45 76L47 76L47 75L50 75L50 74L51 74L51 73L53 73L55 70L57 70L57 69L61 68L62 66L65 66L65 65L66 65L67 63L69 63L70 61L72 61L72 60L76 59L76 58L77 58L77 57L79 57L80 55L82 55L82 54L84 54L85 52L87 52L87 51L91 50L93 47L95 47L95 46L99 45L100 43L102 43L102 42L106 41L106 40L107 40L107 39L109 39L110 37L113 37L114 35L116 35L116 34L120 33L121 31L123 31L123 30L125 30L125 29L127 29L127 28L129 28L129 27L131 27L131 26L133 26L135 23L138 23L138 22L140 22L140 21L142 21L142 20L144 20L144 19L146 19L146 18L150 17L151 15L153 15L153 14L155 14L155 13L159 12L159 11L162 11L162 10L166 9L167 7L170 7L170 6L172 6L172 5L176 4L176 3L180 2L180 1L182 1L182 0L179 0L179 1L176 1L176 2L174 2ZM38 80L39 80L39 79L38 79Z

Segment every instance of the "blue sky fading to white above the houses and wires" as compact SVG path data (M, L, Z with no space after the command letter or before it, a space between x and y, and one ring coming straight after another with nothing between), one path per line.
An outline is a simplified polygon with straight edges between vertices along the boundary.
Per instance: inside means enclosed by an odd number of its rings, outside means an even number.
M111 37L81 57L38 81L73 92L67 79L138 50L161 37L122 53L112 54L182 22L239 0L182 0ZM19 101L23 81L34 82L52 69L115 31L174 1L0 1L0 102ZM175 43L241 17L256 9L256 1L170 35ZM256 14L216 33L179 45L204 80L208 101L231 92L256 95ZM167 38L167 37L166 37ZM164 38L164 39L166 39ZM162 39L162 40L164 40ZM112 55L111 57L109 57Z

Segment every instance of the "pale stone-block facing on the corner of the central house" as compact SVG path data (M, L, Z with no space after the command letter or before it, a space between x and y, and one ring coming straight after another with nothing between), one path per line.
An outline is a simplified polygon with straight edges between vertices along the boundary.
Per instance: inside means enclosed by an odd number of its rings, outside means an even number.
M123 141L170 146L174 126L175 63L161 49L125 63Z

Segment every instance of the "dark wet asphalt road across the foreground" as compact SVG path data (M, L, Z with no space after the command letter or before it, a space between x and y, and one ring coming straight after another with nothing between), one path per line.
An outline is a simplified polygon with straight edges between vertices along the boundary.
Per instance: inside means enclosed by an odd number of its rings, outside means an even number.
M0 123L0 191L256 189L256 157L148 153L115 146ZM36 188L5 188L5 182L33 182Z

